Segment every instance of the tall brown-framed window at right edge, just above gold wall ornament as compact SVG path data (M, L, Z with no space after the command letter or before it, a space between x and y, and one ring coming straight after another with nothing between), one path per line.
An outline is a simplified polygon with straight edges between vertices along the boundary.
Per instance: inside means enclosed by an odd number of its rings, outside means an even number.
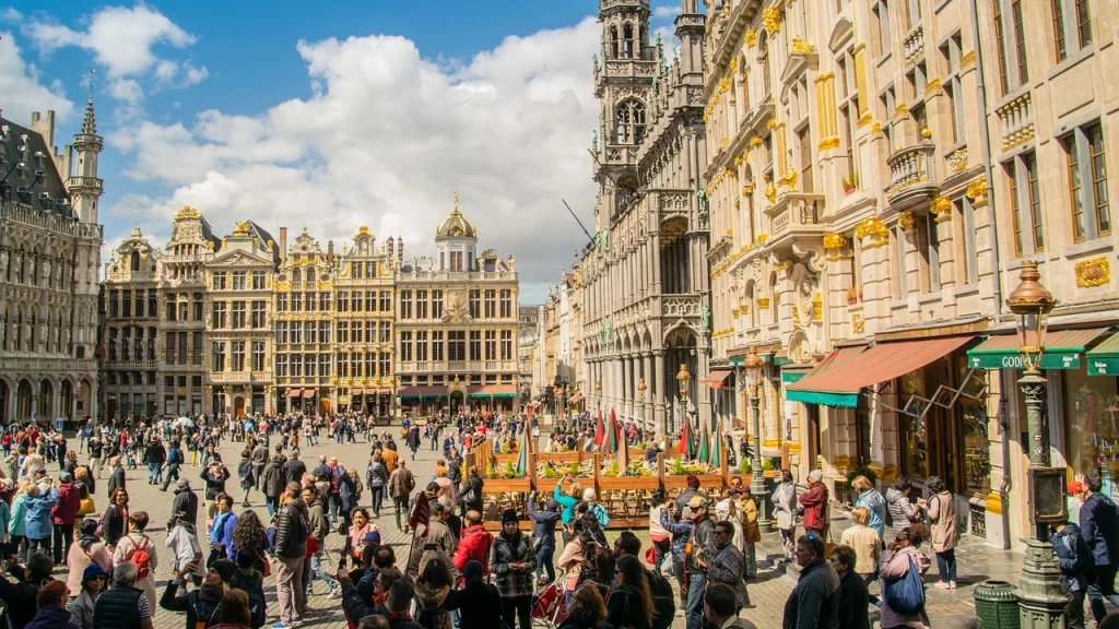
M1100 123L1075 129L1064 138L1063 143L1074 238L1082 241L1110 234L1111 215Z

